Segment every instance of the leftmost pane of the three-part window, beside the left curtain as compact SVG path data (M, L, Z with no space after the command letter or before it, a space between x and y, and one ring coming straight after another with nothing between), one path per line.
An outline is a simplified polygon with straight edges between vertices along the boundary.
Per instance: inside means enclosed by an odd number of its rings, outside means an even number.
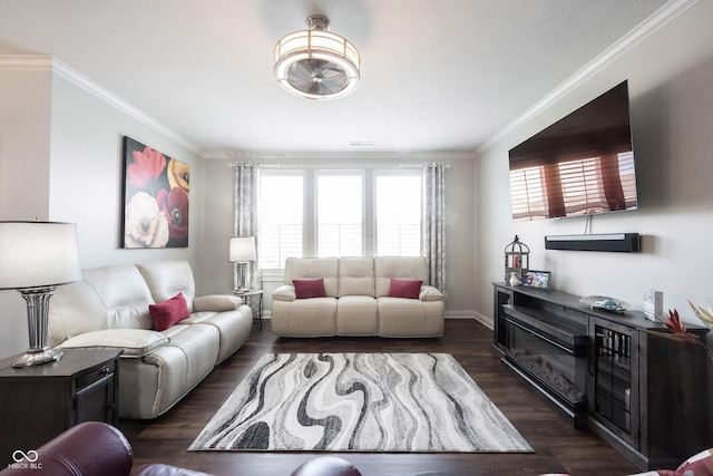
M284 266L289 256L302 258L304 175L270 171L260 179L260 265Z

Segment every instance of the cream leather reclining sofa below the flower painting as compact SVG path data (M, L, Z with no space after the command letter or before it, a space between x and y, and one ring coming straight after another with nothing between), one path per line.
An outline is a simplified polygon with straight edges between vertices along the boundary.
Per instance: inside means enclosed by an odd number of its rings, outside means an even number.
M182 293L187 319L154 330L149 305ZM184 307L185 309L185 307ZM150 261L82 271L49 304L48 340L60 348L119 348L119 417L166 412L250 337L250 307L232 295L195 298L185 261Z

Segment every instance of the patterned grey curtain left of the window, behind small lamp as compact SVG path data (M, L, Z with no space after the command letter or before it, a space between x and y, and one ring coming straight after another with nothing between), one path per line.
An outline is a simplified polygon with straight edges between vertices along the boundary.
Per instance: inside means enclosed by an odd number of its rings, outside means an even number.
M257 164L235 164L235 224L233 236L255 236L255 251L260 259L260 236L257 223ZM237 286L237 266L233 271L233 288ZM261 286L257 261L246 266L245 283L252 289Z

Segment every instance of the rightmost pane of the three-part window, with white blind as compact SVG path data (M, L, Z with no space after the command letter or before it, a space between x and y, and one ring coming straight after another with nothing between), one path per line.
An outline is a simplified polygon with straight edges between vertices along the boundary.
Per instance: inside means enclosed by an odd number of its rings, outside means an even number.
M420 175L378 174L375 207L375 254L379 256L421 254Z

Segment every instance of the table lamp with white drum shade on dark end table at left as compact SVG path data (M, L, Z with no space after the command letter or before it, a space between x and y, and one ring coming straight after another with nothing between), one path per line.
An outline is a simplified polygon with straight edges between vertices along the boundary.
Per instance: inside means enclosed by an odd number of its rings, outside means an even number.
M59 360L47 344L48 304L55 289L81 279L74 223L0 222L0 290L14 289L27 301L30 348L12 367Z

